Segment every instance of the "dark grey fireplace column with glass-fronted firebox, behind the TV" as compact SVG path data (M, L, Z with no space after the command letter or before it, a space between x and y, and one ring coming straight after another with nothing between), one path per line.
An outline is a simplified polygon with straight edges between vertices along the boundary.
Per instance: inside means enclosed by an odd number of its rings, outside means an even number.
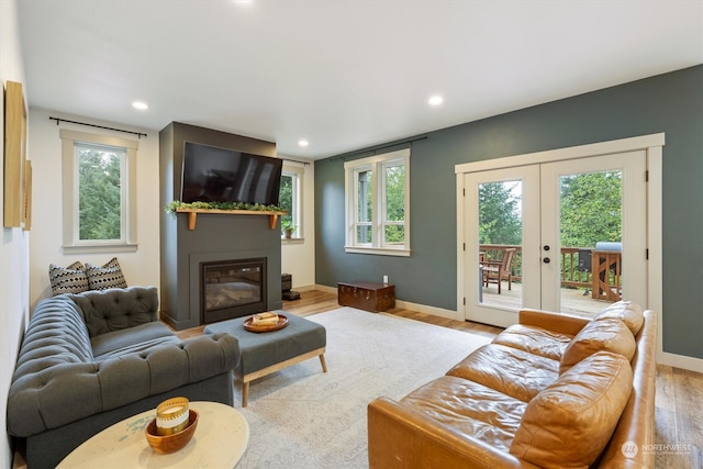
M276 156L276 144L272 142L171 122L159 132L158 138L160 206L180 198L186 142ZM181 213L171 216L166 211L160 211L159 319L176 331L237 315L245 316L255 311L282 308L280 223L271 228L268 216L215 212L200 214L198 225L193 228L188 223L189 215ZM203 292L207 284L203 279L207 277L202 275L202 263L222 263L227 259L249 261L260 258L266 259L266 265L260 267L266 269L266 273L261 271L261 282L265 284L261 284L259 293L263 302L249 303L250 299L245 299L244 293L237 293L236 302L243 302L244 305L228 304L226 308L212 308L208 309L212 311L205 312ZM214 267L221 269L221 266ZM227 273L227 270L223 271ZM222 278L222 272L220 273ZM243 277L241 283L252 283L248 276ZM210 276L211 283L215 279L216 275Z

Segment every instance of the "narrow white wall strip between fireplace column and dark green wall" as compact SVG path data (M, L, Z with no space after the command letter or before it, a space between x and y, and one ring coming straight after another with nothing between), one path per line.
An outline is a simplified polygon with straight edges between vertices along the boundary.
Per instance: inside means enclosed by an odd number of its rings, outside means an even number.
M284 155L278 157L286 158ZM304 170L302 239L281 242L281 273L293 276L293 289L304 289L315 284L315 165L312 160L291 159L310 164L300 165Z

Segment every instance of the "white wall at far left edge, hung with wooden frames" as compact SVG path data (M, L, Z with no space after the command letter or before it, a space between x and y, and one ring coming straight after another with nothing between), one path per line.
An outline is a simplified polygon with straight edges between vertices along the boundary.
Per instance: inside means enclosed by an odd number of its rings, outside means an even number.
M0 1L0 80L24 82L24 68L20 52L20 31L16 0ZM25 101L26 90L24 93ZM0 96L4 109L4 93ZM0 142L4 142L4 113L0 112ZM31 149L31 146L29 147ZM4 154L4 146L1 154ZM29 157L29 155L27 155ZM4 163L2 165L4 167ZM0 178L0 208L4 203L4 182ZM1 212L2 209L0 209ZM0 239L0 410L7 421L8 390L12 381L14 362L29 317L29 259L30 234L21 228L2 227ZM3 425L4 429L4 425ZM0 450L0 468L12 464L12 447L7 436Z

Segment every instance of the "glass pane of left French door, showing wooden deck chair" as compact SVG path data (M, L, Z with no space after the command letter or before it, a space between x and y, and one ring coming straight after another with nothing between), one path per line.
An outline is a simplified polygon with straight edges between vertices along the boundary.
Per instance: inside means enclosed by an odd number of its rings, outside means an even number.
M479 302L522 306L523 182L479 185Z

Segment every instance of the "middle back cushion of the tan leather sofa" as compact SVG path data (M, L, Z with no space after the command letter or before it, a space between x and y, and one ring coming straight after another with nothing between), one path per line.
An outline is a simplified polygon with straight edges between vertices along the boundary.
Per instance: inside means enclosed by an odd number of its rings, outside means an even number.
M559 373L595 354L607 350L620 354L632 360L635 356L637 344L625 323L615 319L591 321L569 343L559 366Z

